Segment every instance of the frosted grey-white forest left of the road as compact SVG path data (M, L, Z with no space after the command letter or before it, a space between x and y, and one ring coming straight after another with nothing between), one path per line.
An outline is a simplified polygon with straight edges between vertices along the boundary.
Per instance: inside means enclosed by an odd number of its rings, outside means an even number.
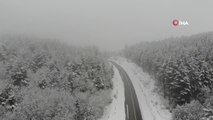
M0 40L1 120L96 120L113 71L95 47L23 36Z

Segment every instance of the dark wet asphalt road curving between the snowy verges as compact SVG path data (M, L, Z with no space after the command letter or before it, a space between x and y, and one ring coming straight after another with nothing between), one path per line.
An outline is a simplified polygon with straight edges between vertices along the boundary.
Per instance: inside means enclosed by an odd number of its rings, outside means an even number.
M126 120L143 120L134 86L126 71L117 63L111 63L118 69L124 82Z

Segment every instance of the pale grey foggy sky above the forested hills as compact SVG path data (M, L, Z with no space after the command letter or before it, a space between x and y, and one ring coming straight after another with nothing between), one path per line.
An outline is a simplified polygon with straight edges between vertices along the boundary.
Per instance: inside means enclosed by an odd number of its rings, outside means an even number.
M212 0L0 0L0 34L118 50L213 30ZM189 26L174 27L173 19Z

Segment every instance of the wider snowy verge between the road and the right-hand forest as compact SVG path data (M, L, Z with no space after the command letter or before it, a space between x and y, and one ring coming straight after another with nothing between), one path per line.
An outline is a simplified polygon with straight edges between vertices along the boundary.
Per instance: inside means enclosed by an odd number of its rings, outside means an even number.
M156 92L155 81L140 67L125 58L117 58L115 61L125 69L132 80L143 120L171 120L171 113L164 104L166 100Z

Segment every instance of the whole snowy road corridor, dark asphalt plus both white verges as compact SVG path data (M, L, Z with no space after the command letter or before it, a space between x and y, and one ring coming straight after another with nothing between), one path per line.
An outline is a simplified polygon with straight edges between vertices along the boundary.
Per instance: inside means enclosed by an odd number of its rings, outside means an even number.
M156 80L126 58L109 61L115 62L112 103L106 106L99 120L172 120L168 101L156 86Z

